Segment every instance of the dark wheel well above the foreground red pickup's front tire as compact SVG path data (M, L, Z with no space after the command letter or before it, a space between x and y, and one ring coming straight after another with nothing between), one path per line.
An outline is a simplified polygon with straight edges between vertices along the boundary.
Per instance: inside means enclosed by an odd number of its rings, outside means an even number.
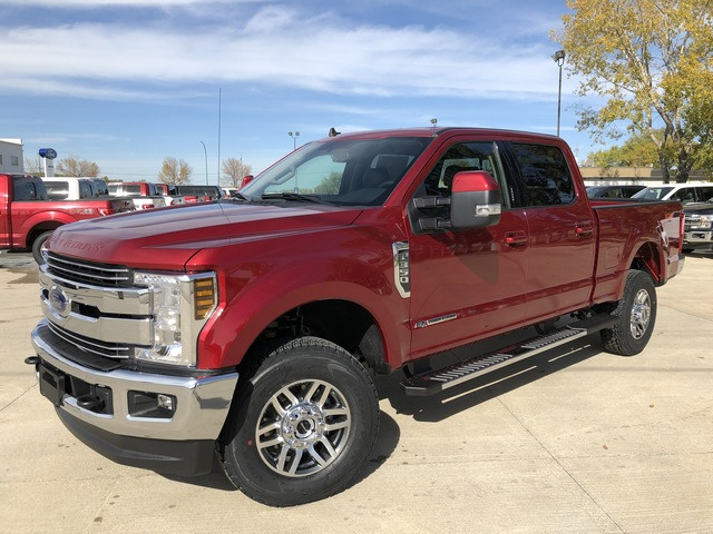
M253 343L241 365L277 339L315 336L339 345L378 373L387 373L384 343L373 316L348 300L318 300L277 317ZM253 356L253 354L255 356Z

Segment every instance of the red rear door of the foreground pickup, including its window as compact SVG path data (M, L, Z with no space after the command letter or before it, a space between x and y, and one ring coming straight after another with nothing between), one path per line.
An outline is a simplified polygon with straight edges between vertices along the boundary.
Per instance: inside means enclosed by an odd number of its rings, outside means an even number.
M544 320L588 305L596 220L583 188L556 145L508 142L517 202L528 227L527 320Z

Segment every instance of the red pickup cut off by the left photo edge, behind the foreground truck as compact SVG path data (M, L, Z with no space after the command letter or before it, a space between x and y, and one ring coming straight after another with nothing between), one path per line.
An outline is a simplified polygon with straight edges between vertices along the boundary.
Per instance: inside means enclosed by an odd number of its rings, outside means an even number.
M56 228L131 209L126 200L49 200L41 178L0 175L0 249L31 249L42 264L40 250Z

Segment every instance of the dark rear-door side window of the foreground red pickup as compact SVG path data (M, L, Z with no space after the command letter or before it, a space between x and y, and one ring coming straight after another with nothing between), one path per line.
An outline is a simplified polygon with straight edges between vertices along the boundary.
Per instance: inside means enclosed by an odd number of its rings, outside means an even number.
M512 145L528 206L557 206L575 199L575 186L561 150L548 145Z

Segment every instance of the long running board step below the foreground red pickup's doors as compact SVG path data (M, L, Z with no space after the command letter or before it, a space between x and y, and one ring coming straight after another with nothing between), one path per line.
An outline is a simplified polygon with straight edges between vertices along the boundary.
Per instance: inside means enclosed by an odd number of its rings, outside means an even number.
M401 383L410 396L428 396L471 380L478 376L520 362L574 339L586 337L604 328L611 328L616 320L608 314L595 315L559 328L544 336L533 337L524 343L468 359L442 369L429 370L407 378Z

